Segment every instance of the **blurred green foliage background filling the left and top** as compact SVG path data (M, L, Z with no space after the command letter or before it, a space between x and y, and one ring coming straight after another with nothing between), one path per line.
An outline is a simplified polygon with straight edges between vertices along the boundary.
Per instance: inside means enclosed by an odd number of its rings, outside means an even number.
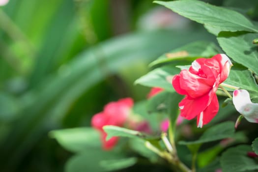
M0 171L62 172L71 153L49 131L90 126L118 98L145 99L149 88L133 83L148 64L196 40L216 39L152 0L9 0L0 7Z

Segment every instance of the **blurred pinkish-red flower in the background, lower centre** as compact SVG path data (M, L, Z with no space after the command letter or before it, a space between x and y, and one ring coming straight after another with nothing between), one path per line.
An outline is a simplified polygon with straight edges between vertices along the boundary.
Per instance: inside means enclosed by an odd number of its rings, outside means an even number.
M110 102L104 107L104 111L95 114L91 118L91 125L93 128L100 131L101 141L105 150L112 149L118 141L118 137L112 137L106 141L107 134L103 130L105 125L123 126L133 107L133 99L124 98L117 102Z

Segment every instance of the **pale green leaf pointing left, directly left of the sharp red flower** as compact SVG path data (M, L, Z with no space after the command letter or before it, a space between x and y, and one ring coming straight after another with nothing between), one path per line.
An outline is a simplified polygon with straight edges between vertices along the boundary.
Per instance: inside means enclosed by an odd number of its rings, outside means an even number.
M135 81L135 84L141 84L143 86L149 87L160 87L167 91L174 92L172 86L172 78L175 74L178 74L180 69L174 67L173 65L167 65L164 67L159 67L143 75L141 78Z

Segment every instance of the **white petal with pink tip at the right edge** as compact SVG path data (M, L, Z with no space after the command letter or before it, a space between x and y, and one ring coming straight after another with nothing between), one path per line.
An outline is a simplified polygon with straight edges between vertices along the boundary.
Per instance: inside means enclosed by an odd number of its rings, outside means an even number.
M252 103L249 92L245 89L236 89L233 92L235 109L249 122L258 123L258 103Z

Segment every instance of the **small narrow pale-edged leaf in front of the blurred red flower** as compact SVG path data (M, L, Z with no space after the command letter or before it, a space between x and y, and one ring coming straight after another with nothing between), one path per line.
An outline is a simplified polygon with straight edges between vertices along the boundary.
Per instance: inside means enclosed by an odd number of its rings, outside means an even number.
M106 140L109 140L114 136L128 137L128 138L143 138L143 139L147 138L147 135L141 133L140 131L129 130L126 128L117 127L113 125L106 125L103 127L103 129L108 134Z

